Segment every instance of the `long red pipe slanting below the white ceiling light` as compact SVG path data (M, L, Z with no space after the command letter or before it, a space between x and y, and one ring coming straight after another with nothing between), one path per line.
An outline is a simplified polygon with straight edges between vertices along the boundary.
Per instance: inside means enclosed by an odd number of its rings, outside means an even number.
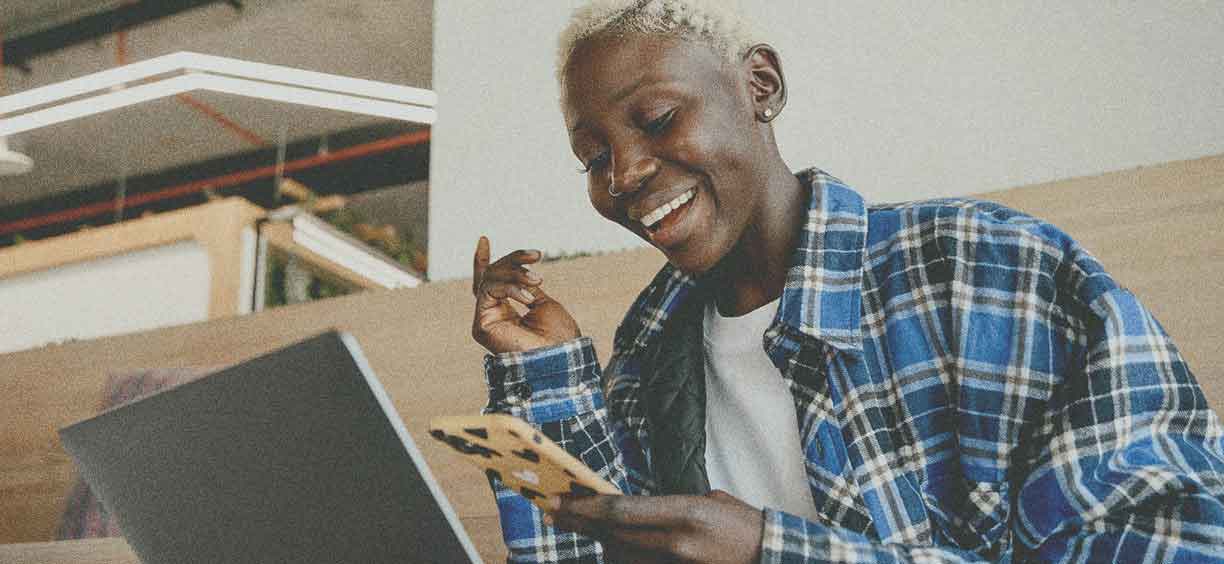
M322 166L330 163L339 163L371 154L386 153L388 150L398 149L401 147L414 147L422 144L427 141L430 141L430 130L414 131L411 133L398 135L395 137L388 137L386 139L378 139L378 141L372 141L370 143L345 147L343 149L332 153L317 154L315 157L307 157L305 159L290 160L285 163L283 170L284 173L293 173L296 170L311 169L315 166ZM222 176L214 176L212 179L196 180L192 182L165 187L155 192L144 192L135 196L129 196L124 198L124 207L135 207L146 203L158 202L162 199L177 198L195 192L202 192L207 188L213 188L213 190L226 188L230 186L246 184L252 180L275 176L275 174L277 174L277 165L269 165L269 166L261 166L258 169L244 170L239 173L230 173ZM82 206L80 208L49 213L45 215L18 219L16 221L0 224L0 235L7 235L11 232L24 231L27 229L35 229L47 225L55 225L59 223L73 221L77 219L84 219L93 215L102 215L108 212L114 212L118 208L119 208L119 199L110 199L106 202L98 202L88 206Z

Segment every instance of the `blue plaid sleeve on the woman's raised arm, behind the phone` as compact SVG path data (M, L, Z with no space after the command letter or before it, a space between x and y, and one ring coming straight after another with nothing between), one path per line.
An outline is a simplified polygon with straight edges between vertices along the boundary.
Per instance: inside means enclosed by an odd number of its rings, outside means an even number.
M568 453L625 493L639 492L625 467L627 436L610 421L601 369L589 338L526 352L488 355L486 414L509 414L540 428ZM632 458L630 458L632 459ZM496 481L491 483L509 562L602 563L599 542L545 525L542 513Z

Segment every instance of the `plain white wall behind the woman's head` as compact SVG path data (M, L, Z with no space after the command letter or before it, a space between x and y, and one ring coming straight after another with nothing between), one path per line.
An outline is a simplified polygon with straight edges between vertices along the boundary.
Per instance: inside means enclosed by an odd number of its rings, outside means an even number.
M435 5L430 275L494 254L638 245L586 202L556 104L578 0ZM1224 2L744 2L782 54L776 131L871 201L1224 153Z

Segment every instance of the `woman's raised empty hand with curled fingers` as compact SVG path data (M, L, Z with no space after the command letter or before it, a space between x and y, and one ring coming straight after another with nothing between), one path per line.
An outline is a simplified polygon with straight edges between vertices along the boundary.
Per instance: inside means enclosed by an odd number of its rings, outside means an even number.
M569 312L540 288L543 279L528 270L541 258L540 251L514 251L490 264L488 239L476 242L471 265L471 291L476 313L471 336L490 352L512 352L552 346L581 335ZM519 313L510 303L526 306Z

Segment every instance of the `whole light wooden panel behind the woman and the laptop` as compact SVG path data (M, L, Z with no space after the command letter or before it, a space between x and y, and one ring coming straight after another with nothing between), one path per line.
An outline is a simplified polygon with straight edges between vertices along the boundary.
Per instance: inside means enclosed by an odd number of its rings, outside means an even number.
M1224 409L1217 352L1224 155L984 197L1049 219L1097 253L1157 313L1212 405ZM494 247L496 254L506 251ZM661 264L655 251L639 250L537 272L606 354L616 323ZM357 336L482 554L499 562L504 549L483 477L425 434L430 417L471 414L483 404L482 350L470 339L470 281L463 280L0 356L0 542L51 538L75 480L55 428L95 411L108 374L237 362L337 327Z

